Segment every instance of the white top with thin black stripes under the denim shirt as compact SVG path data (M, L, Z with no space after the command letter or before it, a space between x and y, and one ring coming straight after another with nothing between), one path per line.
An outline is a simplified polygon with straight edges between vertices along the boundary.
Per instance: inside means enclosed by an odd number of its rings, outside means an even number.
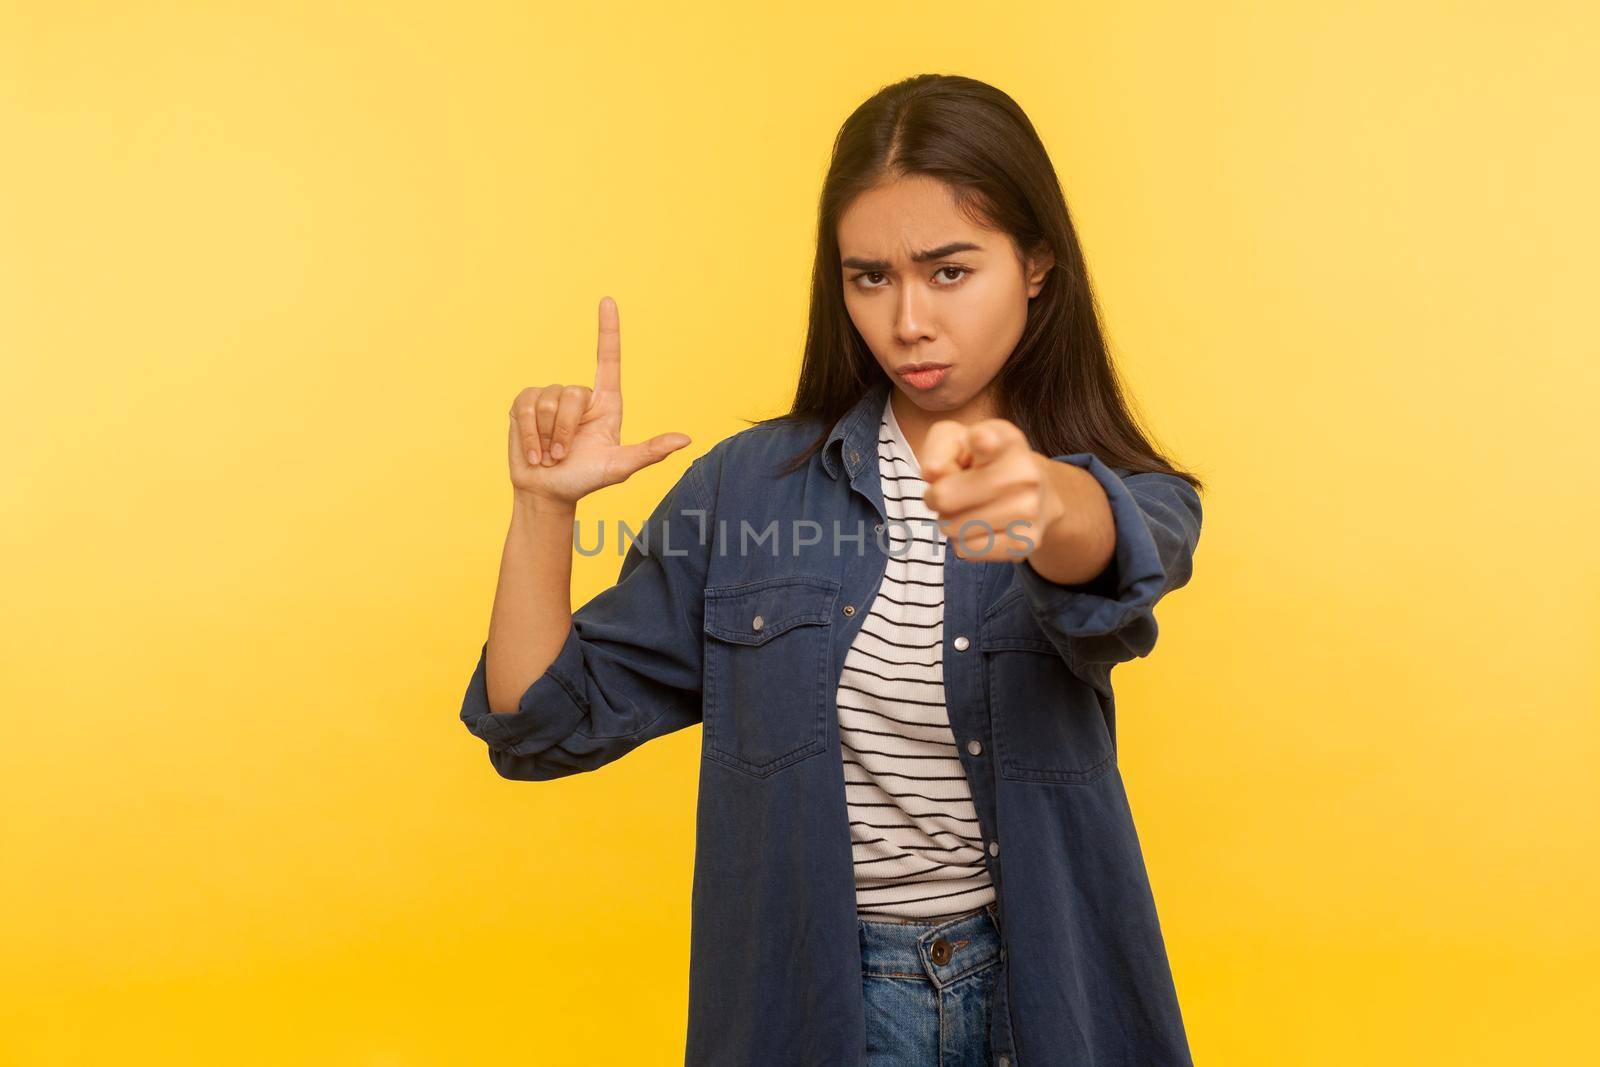
M878 477L890 558L838 681L856 912L877 921L960 915L995 896L944 705L946 539L922 502L920 475L885 403Z

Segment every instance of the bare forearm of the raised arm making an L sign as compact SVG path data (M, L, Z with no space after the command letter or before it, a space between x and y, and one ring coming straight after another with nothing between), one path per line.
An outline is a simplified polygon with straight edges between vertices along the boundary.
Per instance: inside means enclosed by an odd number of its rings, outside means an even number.
M571 504L514 494L490 614L485 686L490 710L515 712L517 701L552 662L573 624Z

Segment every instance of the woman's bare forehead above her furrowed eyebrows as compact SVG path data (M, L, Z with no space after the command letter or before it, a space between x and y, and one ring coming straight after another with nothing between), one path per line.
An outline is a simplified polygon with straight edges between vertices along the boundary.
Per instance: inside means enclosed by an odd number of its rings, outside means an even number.
M994 232L955 208L950 187L926 174L896 178L856 197L838 218L842 256L902 259L910 253L973 242L989 246Z

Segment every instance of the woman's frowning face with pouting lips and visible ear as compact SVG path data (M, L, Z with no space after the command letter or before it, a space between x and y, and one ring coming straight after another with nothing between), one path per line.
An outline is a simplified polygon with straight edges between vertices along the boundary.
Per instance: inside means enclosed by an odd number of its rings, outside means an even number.
M896 390L928 422L990 418L989 386L1022 336L1048 258L1024 266L1010 235L974 227L950 189L922 174L856 197L838 251L845 307ZM907 373L917 363L944 370Z

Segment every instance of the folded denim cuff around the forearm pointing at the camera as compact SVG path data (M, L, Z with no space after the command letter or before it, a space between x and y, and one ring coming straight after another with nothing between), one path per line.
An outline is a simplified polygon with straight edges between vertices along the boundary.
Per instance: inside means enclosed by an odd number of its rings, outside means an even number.
M1040 619L1048 619L1069 637L1112 633L1147 611L1166 589L1162 553L1150 534L1149 520L1128 485L1094 453L1051 456L1094 475L1110 501L1117 526L1117 549L1099 576L1066 585L1053 582L1029 560L1013 563L1022 593Z

